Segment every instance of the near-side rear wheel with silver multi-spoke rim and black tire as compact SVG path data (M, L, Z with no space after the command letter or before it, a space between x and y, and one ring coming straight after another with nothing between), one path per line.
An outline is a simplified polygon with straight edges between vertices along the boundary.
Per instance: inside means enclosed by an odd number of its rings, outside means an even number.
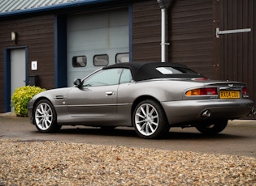
M170 129L163 108L151 99L137 104L132 113L132 125L139 137L147 139L164 137Z

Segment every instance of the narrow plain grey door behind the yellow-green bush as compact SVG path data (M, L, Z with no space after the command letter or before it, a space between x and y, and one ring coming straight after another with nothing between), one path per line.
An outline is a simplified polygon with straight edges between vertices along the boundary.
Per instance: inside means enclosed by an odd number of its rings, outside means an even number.
M11 49L11 96L18 87L26 85L25 49Z

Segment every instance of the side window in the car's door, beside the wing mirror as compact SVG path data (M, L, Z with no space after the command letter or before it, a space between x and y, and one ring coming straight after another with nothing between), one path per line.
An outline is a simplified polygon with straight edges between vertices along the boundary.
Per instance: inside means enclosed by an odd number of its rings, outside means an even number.
M84 81L84 87L98 87L107 85L116 85L119 83L119 78L122 73L122 69L108 69L100 70L96 74L93 74Z

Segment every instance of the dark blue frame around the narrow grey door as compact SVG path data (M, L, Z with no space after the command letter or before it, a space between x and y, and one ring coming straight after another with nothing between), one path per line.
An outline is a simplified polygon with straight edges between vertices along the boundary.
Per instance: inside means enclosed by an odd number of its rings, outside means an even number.
M4 112L11 112L11 50L25 49L25 78L28 85L28 46L19 46L3 49L3 87Z

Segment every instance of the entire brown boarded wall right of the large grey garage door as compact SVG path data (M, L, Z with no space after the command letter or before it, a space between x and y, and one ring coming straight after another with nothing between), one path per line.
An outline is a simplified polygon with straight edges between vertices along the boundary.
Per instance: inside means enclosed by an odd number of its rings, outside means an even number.
M183 63L208 78L247 83L249 98L256 107L256 1L165 2L169 2L167 61ZM157 2L134 3L132 20L133 59L160 61L161 12ZM219 30L249 27L252 31L216 38L216 27Z

